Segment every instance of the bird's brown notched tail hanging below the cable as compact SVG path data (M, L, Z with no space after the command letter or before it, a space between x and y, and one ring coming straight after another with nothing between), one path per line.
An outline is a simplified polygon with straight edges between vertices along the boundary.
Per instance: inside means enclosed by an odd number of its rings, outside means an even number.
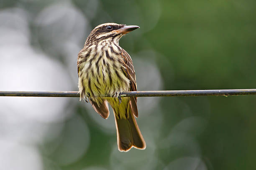
M123 102L120 104L122 105ZM131 103L126 105L125 113L121 113L122 109L114 110L115 126L117 130L118 149L127 152L132 147L137 149L145 149L146 143L138 128L137 122L131 109ZM123 117L122 115L125 115Z

